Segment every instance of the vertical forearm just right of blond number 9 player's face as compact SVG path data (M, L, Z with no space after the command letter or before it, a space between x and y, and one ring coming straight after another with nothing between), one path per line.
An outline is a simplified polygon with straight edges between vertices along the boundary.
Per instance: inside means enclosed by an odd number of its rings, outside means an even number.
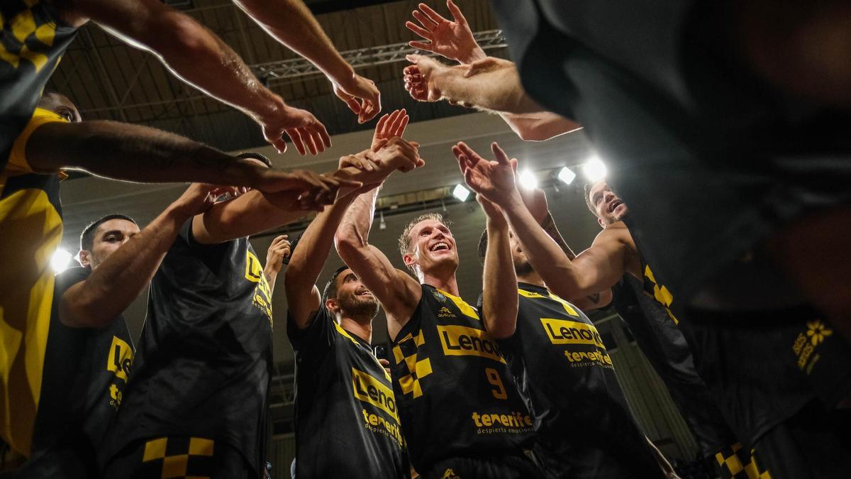
M505 222L488 220L482 315L485 327L494 338L508 338L517 328L517 275Z

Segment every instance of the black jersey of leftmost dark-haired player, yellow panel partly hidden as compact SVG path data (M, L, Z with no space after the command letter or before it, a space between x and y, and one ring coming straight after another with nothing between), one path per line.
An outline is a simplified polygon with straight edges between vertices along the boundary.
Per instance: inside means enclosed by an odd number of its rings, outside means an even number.
M123 315L100 328L60 322L62 295L89 274L89 268L68 268L56 276L32 459L20 476L99 476L97 454L121 404L133 342Z

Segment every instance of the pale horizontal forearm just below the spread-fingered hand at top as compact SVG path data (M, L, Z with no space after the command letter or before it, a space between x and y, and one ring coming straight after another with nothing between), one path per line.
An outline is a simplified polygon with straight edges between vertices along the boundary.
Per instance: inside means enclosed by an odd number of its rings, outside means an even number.
M466 66L435 72L434 84L443 98L496 113L533 113L542 108L523 91L517 69L503 66L465 77Z

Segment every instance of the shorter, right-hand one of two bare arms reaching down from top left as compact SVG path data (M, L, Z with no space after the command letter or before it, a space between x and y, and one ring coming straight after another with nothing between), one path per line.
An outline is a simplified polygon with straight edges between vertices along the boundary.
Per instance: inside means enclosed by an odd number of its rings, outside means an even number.
M277 41L325 73L334 84L334 94L357 114L358 122L367 122L380 113L380 92L374 82L355 73L346 63L304 2L234 0L234 3Z

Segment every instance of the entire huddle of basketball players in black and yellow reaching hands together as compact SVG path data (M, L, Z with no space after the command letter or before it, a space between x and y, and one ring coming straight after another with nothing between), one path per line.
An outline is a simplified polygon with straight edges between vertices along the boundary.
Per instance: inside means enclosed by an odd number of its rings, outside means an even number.
M526 141L583 128L614 166L585 185L602 231L576 254L500 145L445 152L486 218L473 300L460 297L464 263L441 214L412 218L398 251L369 241L381 186L426 165L405 135L408 112L379 116L375 84L300 0L234 3L324 72L360 123L378 118L371 144L320 174L87 121L43 89L92 21L248 114L279 153L285 136L302 155L331 144L317 118L163 3L0 8L0 477L288 469L266 453L276 283L295 355L300 479L680 477L637 423L618 380L630 372L615 370L584 312L608 306L697 441L694 477L851 474L851 76L825 66L851 52L772 36L811 13L817 32L847 38L847 9L493 0L507 61L477 45L453 0L451 19L420 3L411 46L457 65L408 55L414 100L499 114ZM120 211L92 218L80 266L54 276L66 170L191 185L144 227ZM264 265L248 237L309 211L304 233L273 240ZM321 278L327 264L338 268ZM123 313L148 286L134 341ZM386 355L373 347L380 310Z

